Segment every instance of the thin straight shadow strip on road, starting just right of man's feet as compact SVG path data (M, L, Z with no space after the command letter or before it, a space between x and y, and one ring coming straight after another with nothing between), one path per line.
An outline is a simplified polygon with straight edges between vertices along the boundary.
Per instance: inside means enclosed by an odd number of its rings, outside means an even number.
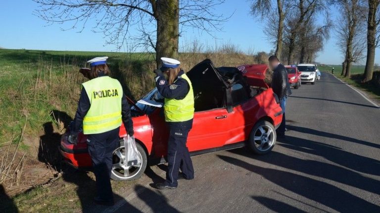
M315 129L310 129L310 128L306 128L306 127L287 125L287 128L289 130L300 132L300 133L307 133L307 134L322 136L322 137L326 137L326 138L334 138L334 139L338 139L338 140L342 140L342 141L354 142L354 143L363 144L363 145L367 145L367 146L371 146L371 147L380 149L380 144L373 143L373 142L366 142L366 141L362 141L362 140L358 140L358 139L354 139L354 138L350 138L350 137L346 137L346 136L336 135L333 133L323 132L323 131L319 131L319 130L315 130Z

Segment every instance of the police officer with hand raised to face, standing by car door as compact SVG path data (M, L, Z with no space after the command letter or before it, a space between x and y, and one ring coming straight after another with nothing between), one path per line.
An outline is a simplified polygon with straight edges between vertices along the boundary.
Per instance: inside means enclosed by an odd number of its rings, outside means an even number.
M183 178L194 178L194 169L186 146L194 116L194 95L189 77L180 68L181 63L170 58L161 60L162 67L154 71L157 75L155 81L159 93L165 98L165 121L170 133L166 180L155 186L158 189L175 189L178 186L180 169Z

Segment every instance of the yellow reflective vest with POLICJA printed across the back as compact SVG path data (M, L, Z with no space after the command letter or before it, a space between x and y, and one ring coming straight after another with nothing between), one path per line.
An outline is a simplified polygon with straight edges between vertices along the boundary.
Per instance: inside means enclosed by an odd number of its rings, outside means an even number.
M120 127L123 88L118 80L101 76L82 84L90 100L83 119L83 133L99 134Z

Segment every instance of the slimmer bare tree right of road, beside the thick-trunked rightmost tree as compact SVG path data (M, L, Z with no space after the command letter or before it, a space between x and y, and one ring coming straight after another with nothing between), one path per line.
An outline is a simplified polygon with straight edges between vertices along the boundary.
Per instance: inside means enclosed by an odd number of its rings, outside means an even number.
M364 0L336 0L339 6L340 18L336 28L337 45L344 54L344 69L342 75L350 77L352 63L363 59L365 38L362 32L365 22Z

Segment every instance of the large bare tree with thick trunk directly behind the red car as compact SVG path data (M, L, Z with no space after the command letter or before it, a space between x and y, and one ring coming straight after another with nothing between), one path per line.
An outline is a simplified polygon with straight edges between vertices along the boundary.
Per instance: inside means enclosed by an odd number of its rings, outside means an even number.
M187 28L206 33L220 31L225 18L215 13L215 6L225 0L34 0L40 5L36 15L53 23L72 23L70 29L79 32L95 19L94 32L107 37L106 44L119 49L125 42L134 41L156 52L157 66L160 58L176 57L178 39ZM130 35L130 27L138 35ZM68 29L63 29L68 30Z

